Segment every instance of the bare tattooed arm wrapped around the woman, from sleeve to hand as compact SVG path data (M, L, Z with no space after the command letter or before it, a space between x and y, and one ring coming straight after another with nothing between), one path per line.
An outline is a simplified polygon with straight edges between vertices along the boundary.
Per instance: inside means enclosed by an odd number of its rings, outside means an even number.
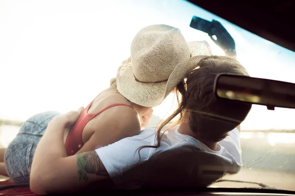
M54 118L41 138L30 171L30 189L33 193L73 192L95 181L110 181L95 151L66 157L63 132L73 125L82 109Z

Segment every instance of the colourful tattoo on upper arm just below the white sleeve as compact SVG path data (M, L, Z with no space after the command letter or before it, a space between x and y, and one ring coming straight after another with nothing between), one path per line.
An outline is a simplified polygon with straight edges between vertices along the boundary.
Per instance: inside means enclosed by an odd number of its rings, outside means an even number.
M87 173L108 176L108 172L95 151L77 154L79 180L88 180Z

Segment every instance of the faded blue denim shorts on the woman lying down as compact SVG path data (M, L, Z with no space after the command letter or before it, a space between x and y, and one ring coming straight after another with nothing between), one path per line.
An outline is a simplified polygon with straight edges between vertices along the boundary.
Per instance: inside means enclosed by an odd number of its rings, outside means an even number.
M36 146L47 124L57 115L59 115L58 112L44 112L32 116L22 124L17 136L8 145L4 163L14 183L29 183L29 171Z

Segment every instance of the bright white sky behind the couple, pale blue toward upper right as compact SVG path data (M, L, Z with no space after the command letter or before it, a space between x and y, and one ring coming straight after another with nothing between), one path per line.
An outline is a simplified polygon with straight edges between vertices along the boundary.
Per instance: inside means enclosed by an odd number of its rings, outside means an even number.
M109 85L143 27L178 27L187 41L206 40L191 18L221 22L251 76L295 82L295 52L279 47L183 0L0 0L0 118L26 120L87 104ZM154 108L164 116L172 97ZM175 106L175 105L174 105ZM254 105L244 129L295 128L295 110Z

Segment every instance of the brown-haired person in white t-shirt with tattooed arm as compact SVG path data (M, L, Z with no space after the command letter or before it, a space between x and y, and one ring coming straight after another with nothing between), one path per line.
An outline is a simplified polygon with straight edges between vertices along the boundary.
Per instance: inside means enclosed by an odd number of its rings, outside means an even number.
M177 85L181 101L159 127L63 158L64 154L56 150L62 144L55 142L51 133L57 133L58 138L62 127L74 123L77 114L54 119L36 149L30 175L32 192L73 192L93 183L95 188L207 186L225 173L238 172L242 163L235 127L246 118L251 104L216 98L213 86L219 73L248 75L247 71L226 56L196 56L183 64L191 71ZM166 126L177 115L175 126Z

